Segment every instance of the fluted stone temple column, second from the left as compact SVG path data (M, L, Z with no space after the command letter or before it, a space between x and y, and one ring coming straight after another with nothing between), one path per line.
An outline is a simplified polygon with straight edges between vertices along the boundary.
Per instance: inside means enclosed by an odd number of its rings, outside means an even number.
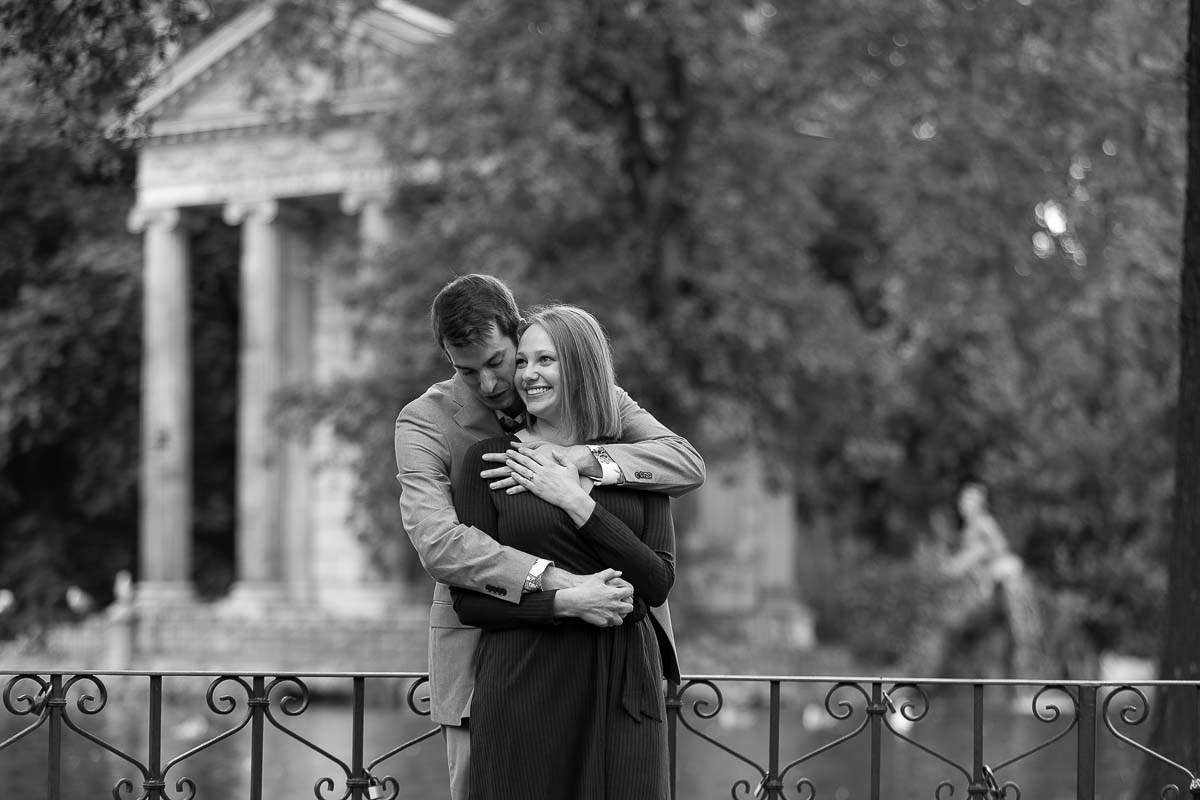
M283 375L283 233L276 200L229 204L241 234L241 353L238 399L236 581L230 601L283 599L281 437L272 402Z

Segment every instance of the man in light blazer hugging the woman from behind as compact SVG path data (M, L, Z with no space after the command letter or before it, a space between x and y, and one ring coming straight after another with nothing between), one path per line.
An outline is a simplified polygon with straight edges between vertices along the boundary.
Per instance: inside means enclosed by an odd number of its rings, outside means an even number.
M425 570L438 582L430 608L431 717L443 726L450 792L466 800L470 758L467 723L474 686L479 628L455 614L449 587L461 587L520 603L529 594L530 624L577 616L593 625L619 621L632 608L631 587L612 570L575 576L533 554L503 547L484 531L458 522L451 476L480 439L520 427L524 409L514 385L520 311L504 283L486 275L461 276L438 293L430 312L438 347L455 375L431 386L396 420L396 465L401 517ZM683 438L620 392L622 441L604 446L557 447L581 475L601 483L665 492L677 497L704 481L704 462ZM550 446L550 445L545 445ZM504 467L484 470L493 489L515 486ZM569 590L569 591L558 591ZM533 594L545 593L545 594ZM656 612L670 638L666 608ZM678 678L673 643L664 648L665 668ZM667 663L668 662L668 663Z

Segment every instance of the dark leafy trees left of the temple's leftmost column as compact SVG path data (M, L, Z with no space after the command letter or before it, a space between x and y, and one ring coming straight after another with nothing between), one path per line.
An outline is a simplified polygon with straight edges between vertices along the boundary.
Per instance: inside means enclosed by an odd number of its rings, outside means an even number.
M200 8L0 6L0 587L18 601L0 636L136 570L142 252L114 124Z

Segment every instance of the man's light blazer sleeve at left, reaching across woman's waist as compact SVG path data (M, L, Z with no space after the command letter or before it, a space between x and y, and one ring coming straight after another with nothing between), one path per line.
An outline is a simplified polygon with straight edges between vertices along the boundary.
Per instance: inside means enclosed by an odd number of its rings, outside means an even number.
M404 531L434 581L520 602L535 558L458 521L449 475L450 445L442 429L451 423L427 397L406 405L396 420L396 479Z

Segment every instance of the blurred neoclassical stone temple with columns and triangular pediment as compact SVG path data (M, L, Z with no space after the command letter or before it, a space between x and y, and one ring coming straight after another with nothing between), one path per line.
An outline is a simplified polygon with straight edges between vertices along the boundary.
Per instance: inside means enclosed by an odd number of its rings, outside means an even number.
M229 603L316 606L378 616L395 585L374 575L347 522L350 479L330 434L298 443L272 423L289 385L320 384L361 362L330 253L343 230L386 245L401 180L371 120L403 86L394 68L451 31L386 1L359 19L340 80L264 56L276 4L253 6L184 53L140 102L148 124L128 225L144 240L143 473L139 604L188 602L192 357L188 222L220 212L240 228L236 577ZM294 66L294 65L293 65ZM348 215L356 224L314 225ZM330 231L334 233L330 233ZM344 237L344 234L342 234ZM344 444L340 445L344 447Z

